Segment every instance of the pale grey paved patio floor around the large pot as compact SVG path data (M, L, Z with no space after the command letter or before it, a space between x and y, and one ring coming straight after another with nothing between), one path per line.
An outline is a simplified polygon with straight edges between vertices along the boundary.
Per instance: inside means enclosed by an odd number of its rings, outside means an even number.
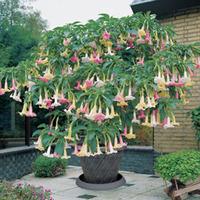
M167 200L163 192L163 181L151 175L121 172L127 184L109 191L92 191L76 186L75 180L82 173L79 167L68 167L65 176L56 178L36 178L33 174L24 176L16 183L27 183L34 186L44 186L53 192L55 200ZM200 199L200 196L186 197L188 200Z

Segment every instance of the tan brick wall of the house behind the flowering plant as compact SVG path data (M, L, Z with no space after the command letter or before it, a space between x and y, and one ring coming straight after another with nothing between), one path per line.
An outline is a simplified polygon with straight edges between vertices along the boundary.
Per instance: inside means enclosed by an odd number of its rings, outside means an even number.
M176 16L166 18L162 24L172 24L177 33L177 42L200 42L200 8L179 12ZM197 148L195 131L192 129L191 120L187 112L200 106L200 72L193 78L194 87L191 90L190 103L180 106L176 112L177 122L180 126L164 130L156 128L154 134L154 149L158 152L173 152L181 149Z

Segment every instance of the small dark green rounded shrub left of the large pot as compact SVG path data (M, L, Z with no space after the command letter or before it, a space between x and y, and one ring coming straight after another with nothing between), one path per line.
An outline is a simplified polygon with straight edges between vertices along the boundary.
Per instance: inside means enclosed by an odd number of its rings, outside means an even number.
M39 156L33 163L33 172L36 177L55 177L63 175L66 166L66 159Z

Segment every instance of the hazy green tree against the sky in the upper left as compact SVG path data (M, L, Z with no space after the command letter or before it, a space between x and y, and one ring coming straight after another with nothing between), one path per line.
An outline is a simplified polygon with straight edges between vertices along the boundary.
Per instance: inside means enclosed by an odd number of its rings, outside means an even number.
M32 0L0 0L0 67L17 66L29 58L47 24Z

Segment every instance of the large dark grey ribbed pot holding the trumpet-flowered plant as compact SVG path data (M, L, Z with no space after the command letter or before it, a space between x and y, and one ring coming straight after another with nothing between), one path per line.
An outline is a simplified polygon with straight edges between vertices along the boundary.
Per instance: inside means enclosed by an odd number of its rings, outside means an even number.
M117 181L122 152L81 157L84 181L97 184Z

